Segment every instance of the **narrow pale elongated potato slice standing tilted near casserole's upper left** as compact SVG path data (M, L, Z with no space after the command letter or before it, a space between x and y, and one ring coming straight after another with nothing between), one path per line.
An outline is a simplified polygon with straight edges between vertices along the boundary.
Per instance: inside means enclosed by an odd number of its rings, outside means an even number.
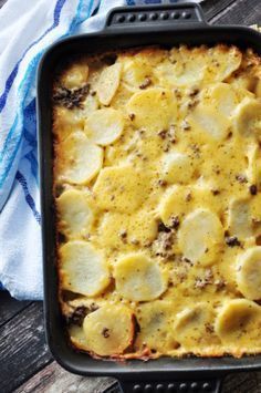
M97 82L97 96L103 105L108 105L113 100L121 80L122 64L115 63L106 66Z

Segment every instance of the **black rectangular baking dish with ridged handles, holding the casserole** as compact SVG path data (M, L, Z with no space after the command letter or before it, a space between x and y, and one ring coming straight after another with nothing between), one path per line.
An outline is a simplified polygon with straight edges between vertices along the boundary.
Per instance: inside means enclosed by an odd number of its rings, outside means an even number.
M52 79L62 59L79 53L159 44L170 46L229 43L253 48L261 54L261 34L243 27L211 27L199 6L117 8L109 12L102 31L64 39L52 45L39 68L38 123L41 167L44 306L48 343L66 370L82 375L115 376L125 392L218 392L221 379L234 371L261 369L261 355L233 359L161 358L125 363L95 360L70 345L58 302L55 268L55 215L52 196ZM109 390L113 392L113 390ZM115 390L116 391L116 390Z

